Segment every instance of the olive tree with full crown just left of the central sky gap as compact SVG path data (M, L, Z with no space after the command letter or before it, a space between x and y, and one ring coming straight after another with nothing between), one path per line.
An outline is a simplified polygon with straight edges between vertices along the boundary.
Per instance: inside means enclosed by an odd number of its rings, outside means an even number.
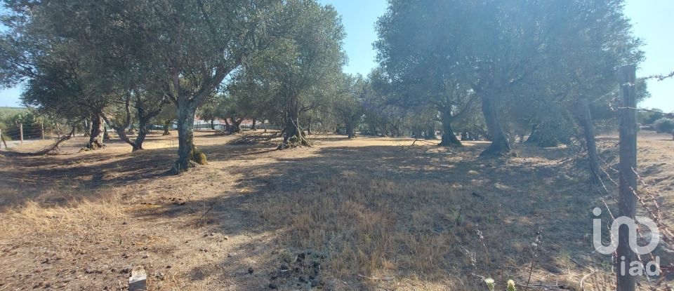
M345 62L345 33L333 7L292 0L287 1L286 13L293 19L286 37L275 39L259 57L246 62L242 72L252 74L249 78L274 99L269 104L279 111L285 126L279 149L309 144L300 116L314 108L314 98L326 95L324 88L334 88Z

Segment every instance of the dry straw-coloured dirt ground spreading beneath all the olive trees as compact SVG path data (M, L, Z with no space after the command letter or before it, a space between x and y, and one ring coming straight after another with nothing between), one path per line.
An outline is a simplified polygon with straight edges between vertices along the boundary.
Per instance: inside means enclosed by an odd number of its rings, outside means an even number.
M486 290L482 277L503 289L527 283L532 257L541 290L612 289L611 257L591 241L600 194L568 149L483 159L484 142L324 135L276 151L258 135L197 133L209 165L179 176L166 173L175 136L136 153L79 152L82 137L55 156L16 152L47 142L3 152L0 290L125 290L138 266L150 290ZM664 209L670 139L639 143ZM600 140L615 163L616 140Z

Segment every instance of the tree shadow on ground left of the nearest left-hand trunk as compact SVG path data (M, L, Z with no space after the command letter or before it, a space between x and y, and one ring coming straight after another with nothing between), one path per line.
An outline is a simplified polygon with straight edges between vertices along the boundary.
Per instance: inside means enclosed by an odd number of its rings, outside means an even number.
M76 159L67 159L72 156L69 154L8 157L11 161L5 161L2 170L0 189L6 193L0 208L29 200L58 204L70 198L95 199L93 192L100 189L168 175L174 151L152 149L133 154L97 151ZM46 193L54 195L45 196Z

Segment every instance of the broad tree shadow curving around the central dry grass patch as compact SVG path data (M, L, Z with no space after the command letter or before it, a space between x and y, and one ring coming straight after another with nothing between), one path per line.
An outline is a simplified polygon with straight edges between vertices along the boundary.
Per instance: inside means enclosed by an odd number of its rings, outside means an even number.
M477 158L486 144L470 145L458 149L445 149L438 147L401 147L401 146L367 146L367 147L323 147L316 149L315 154L309 156L293 157L294 150L273 151L272 147L260 145L257 147L227 147L206 146L202 147L209 155L211 161L228 161L236 165L227 166L227 175L236 177L233 188L206 199L195 199L190 205L171 205L159 210L145 212L141 215L144 219L161 219L161 217L190 216L183 220L183 227L193 228L204 224L204 216L207 219L206 227L229 236L250 236L257 241L239 245L234 248L232 259L227 258L223 262L209 262L197 266L192 270L194 278L204 276L218 277L217 280L227 280L232 276L247 276L245 269L247 260L270 262L263 267L261 277L273 278L279 271L279 265L284 264L279 259L279 252L290 250L293 253L305 250L298 246L284 245L279 243L279 236L287 236L287 232L293 231L290 224L283 222L265 222L260 218L268 207L265 201L286 196L293 199L297 195L305 195L308 192L321 193L322 181L331 179L381 180L404 187L409 183L416 182L442 182L447 185L457 184L468 187L473 201L471 203L485 211L494 209L496 221L484 222L486 224L503 224L503 229L511 232L507 237L517 240L515 245L527 245L534 241L539 227L546 231L546 238L550 243L548 250L541 252L541 265L552 272L560 272L560 266L553 260L562 252L574 253L587 246L585 238L586 225L579 221L578 217L584 215L586 205L590 203L593 195L579 191L578 177L572 175L573 170L567 164L540 163L533 158L517 158L513 163L511 159L484 159ZM297 149L302 151L303 149ZM543 150L541 150L543 151ZM548 154L562 155L558 151L562 149L545 149ZM286 154L287 153L287 154ZM246 161L255 159L256 155L270 154L265 163L246 164ZM237 163L244 162L244 163ZM246 191L242 191L246 189ZM369 191L369 190L368 190ZM395 197L392 197L395 201ZM364 201L355 207L371 208L372 201ZM491 203L491 206L484 205ZM199 205L206 205L208 211L197 211ZM583 206L584 205L584 206ZM203 206L201 206L203 207ZM305 208L307 205L298 204L297 208ZM457 205L448 206L456 208ZM204 209L206 209L204 208ZM505 208L505 210L501 210ZM560 211L563 210L563 211ZM295 210L288 209L288 212ZM487 210L489 211L489 210ZM195 215L196 213L196 215ZM550 215L555 215L554 219ZM471 214L475 219L491 217L487 212ZM291 215L292 217L292 215ZM399 217L399 219L413 219L414 217ZM498 226L497 226L498 227ZM576 232L574 232L574 229ZM485 234L485 236L494 234ZM492 238L502 239L502 237ZM512 243L512 242L508 242ZM491 245L490 245L491 247ZM514 259L524 264L530 257L518 250L513 245L501 246L497 252L510 254L510 257L500 258ZM404 252L404 250L401 250ZM496 262L501 261L495 261ZM233 264L233 265L232 265ZM218 266L232 266L230 271L209 273L208 270ZM470 269L470 268L469 268ZM444 270L450 273L450 270ZM208 275L206 275L208 274ZM397 276L409 276L414 278L418 275L415 269L397 269ZM251 276L248 287L265 287L265 278ZM244 279L248 280L248 279ZM297 279L299 280L299 279ZM363 278L349 278L355 280L351 287L360 286ZM432 280L432 279L428 279ZM254 281L254 282L253 282ZM237 281L239 282L239 281ZM263 282L263 283L260 283ZM294 284L295 281L291 283ZM239 282L239 284L246 284Z

